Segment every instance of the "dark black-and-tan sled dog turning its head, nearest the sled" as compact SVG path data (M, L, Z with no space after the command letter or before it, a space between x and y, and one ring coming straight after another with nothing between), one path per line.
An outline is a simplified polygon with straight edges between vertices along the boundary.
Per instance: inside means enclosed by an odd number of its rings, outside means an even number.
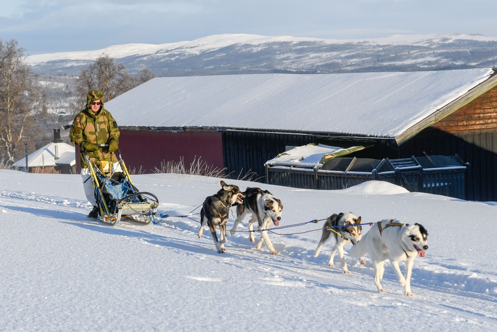
M217 194L208 196L200 210L200 230L198 237L202 237L204 225L207 224L212 233L212 238L216 244L219 253L226 251L224 243L226 242L226 222L229 219L229 212L232 205L243 203L245 194L235 185L227 185L221 181L221 189ZM219 225L220 238L216 234L216 226Z

